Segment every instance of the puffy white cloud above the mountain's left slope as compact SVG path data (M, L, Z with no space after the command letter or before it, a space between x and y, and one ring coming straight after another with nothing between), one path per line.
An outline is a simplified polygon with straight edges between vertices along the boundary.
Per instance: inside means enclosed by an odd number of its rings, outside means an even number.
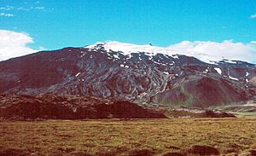
M38 49L29 48L28 43L33 43L33 38L28 34L0 29L0 61L38 51Z

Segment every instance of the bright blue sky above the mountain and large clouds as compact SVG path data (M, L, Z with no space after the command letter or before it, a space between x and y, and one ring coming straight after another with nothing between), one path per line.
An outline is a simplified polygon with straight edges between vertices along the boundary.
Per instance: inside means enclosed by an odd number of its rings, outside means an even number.
M0 0L0 29L38 49L99 41L169 46L256 40L255 0Z

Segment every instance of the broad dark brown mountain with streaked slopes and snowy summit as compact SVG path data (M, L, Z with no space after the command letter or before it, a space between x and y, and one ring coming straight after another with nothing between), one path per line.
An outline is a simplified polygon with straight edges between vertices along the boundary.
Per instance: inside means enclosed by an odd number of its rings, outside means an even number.
M80 95L160 106L254 100L256 66L177 49L96 43L0 62L0 93Z

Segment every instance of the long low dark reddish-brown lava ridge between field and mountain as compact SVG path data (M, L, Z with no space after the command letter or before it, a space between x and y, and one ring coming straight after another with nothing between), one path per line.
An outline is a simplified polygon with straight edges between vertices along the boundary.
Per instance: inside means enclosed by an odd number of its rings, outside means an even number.
M166 118L161 113L128 101L106 102L99 98L58 95L0 95L0 118Z

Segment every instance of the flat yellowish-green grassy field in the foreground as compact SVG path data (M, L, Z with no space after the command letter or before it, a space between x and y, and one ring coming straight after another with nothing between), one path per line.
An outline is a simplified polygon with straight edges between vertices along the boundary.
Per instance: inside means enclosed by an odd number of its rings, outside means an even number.
M236 155L253 149L256 118L0 122L0 155Z

